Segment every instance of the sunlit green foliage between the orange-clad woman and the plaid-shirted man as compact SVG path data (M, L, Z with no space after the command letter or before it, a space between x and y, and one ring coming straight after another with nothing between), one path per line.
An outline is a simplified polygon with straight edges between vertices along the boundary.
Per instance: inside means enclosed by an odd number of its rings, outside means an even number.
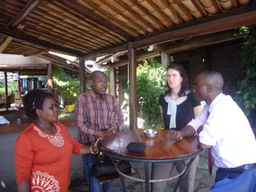
M80 94L79 80L66 74L60 67L54 68L51 73L53 74L54 86L57 87L63 99L63 106L74 104Z

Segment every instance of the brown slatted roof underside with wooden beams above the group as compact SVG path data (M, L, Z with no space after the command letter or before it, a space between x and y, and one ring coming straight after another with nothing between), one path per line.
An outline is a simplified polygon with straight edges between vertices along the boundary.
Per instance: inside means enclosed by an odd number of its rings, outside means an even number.
M54 51L122 66L129 42L138 58L172 54L234 39L234 28L256 23L255 15L249 0L2 0L0 53Z

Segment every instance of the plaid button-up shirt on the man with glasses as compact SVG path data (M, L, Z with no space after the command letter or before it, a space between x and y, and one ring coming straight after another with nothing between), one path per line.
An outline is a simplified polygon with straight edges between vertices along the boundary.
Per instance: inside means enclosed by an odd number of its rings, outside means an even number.
M122 130L124 123L121 106L111 94L103 94L102 101L96 99L92 90L80 94L75 107L75 122L78 128L78 142L85 144L97 139L95 130L116 126Z

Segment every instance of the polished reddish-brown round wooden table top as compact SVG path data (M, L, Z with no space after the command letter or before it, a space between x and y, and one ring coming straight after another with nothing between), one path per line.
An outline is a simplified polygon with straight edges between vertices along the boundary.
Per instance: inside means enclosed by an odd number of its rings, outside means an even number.
M119 158L130 160L138 158L144 160L170 160L186 159L188 156L197 156L203 150L198 146L198 138L194 136L183 138L180 142L170 139L170 130L159 130L157 138L145 138L144 130L127 130L111 134L102 139L101 149L106 154L114 154ZM143 142L146 150L134 153L126 150L130 142ZM191 157L192 158L192 157Z

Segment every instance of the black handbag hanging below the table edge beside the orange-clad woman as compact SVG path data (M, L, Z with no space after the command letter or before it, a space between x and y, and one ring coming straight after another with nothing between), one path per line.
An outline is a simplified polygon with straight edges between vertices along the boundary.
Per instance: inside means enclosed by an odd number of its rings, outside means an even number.
M113 162L110 157L106 154L91 154L93 165L90 167L90 177L95 178L100 175L106 174L118 174L118 171L115 169ZM130 173L131 165L129 161L122 160L118 163L118 170L122 173Z

